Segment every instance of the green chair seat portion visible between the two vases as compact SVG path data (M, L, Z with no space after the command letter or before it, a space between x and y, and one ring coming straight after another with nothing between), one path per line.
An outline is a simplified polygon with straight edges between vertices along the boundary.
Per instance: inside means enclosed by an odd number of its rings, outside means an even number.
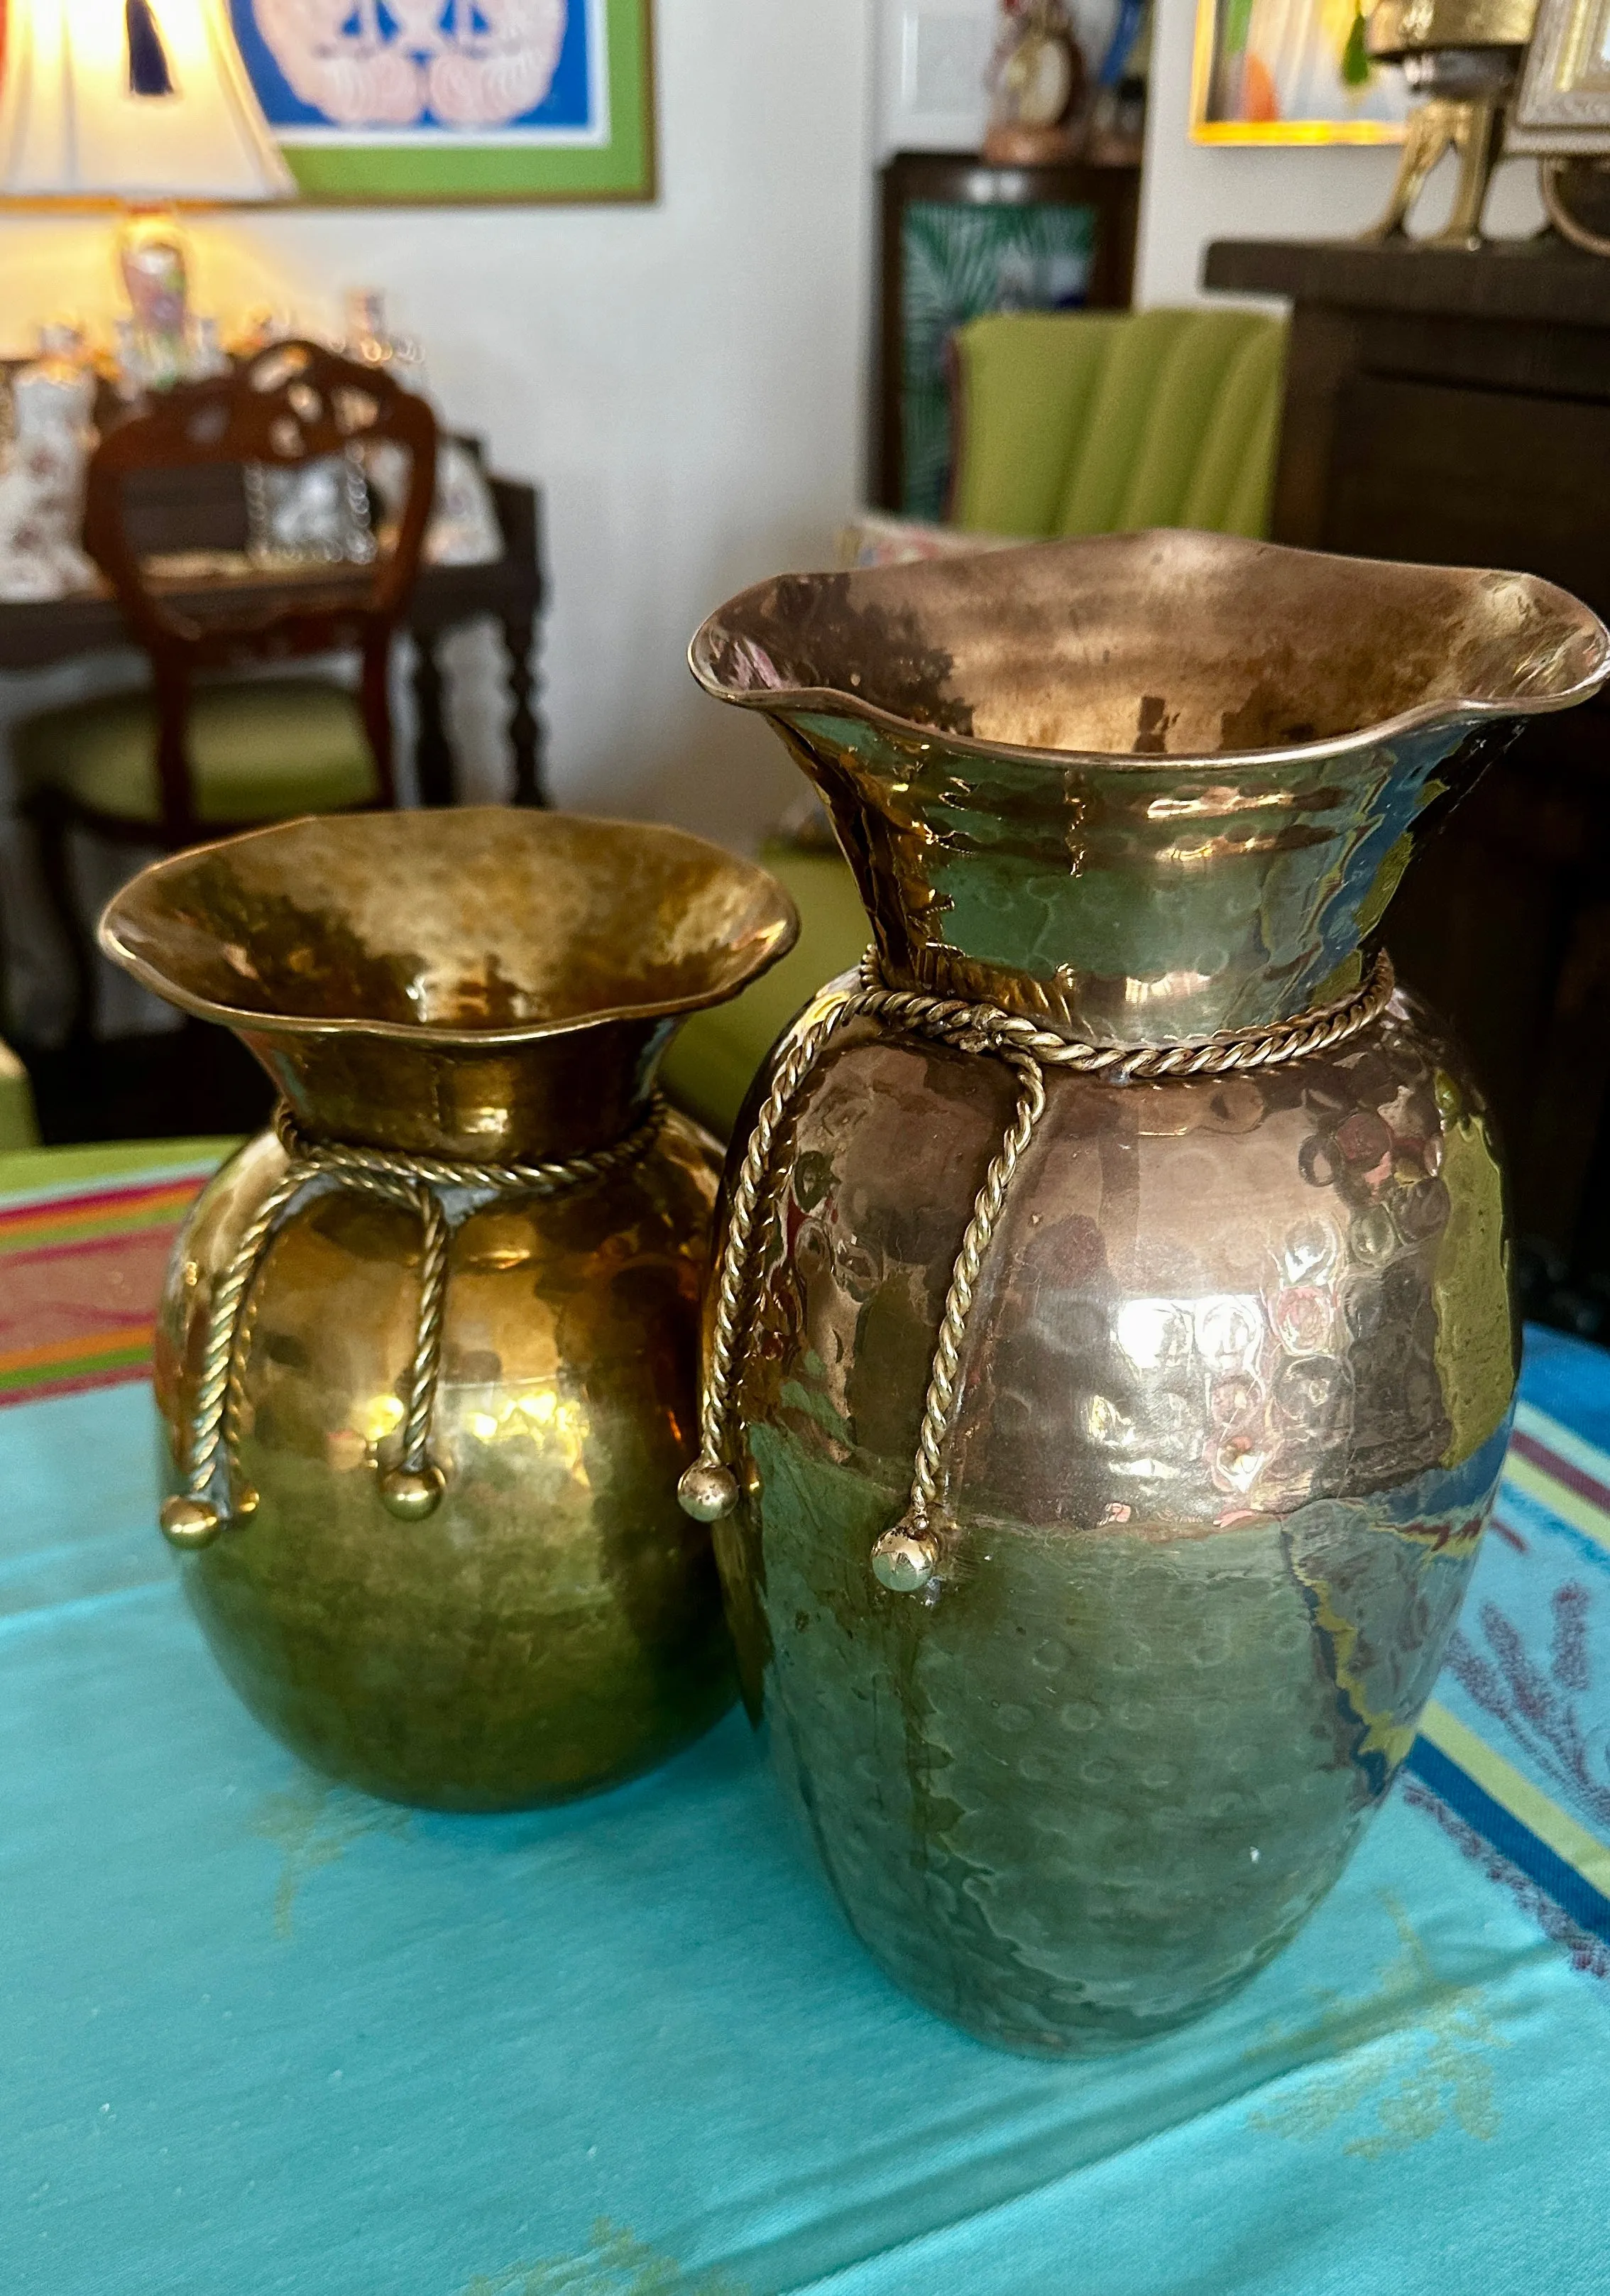
M792 895L799 939L781 964L733 1003L694 1013L671 1040L661 1070L678 1107L721 1139L733 1130L753 1072L774 1040L825 980L859 964L873 937L854 877L838 854L772 843L760 847L760 861Z

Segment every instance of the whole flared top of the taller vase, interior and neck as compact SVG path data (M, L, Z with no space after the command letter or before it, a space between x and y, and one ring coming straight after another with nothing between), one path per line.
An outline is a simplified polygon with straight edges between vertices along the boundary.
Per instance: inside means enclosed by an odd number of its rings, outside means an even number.
M891 985L1135 1045L1353 987L1438 801L1610 636L1525 574L1151 533L783 576L691 664L822 792Z

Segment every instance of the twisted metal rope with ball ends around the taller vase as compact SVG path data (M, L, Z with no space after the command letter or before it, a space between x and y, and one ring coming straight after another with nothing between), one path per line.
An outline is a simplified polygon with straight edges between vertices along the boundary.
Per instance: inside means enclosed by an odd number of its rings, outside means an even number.
M756 1313L756 1263L765 1258L781 1212L783 1182L772 1173L776 1137L799 1086L827 1045L854 1019L875 1019L891 1031L926 1035L960 1052L990 1052L1017 1077L1017 1107L985 1173L951 1265L951 1283L939 1318L923 1424L912 1465L912 1490L900 1522L873 1545L873 1570L896 1593L916 1593L939 1573L946 1515L944 1453L960 1403L960 1359L967 1339L978 1272L1006 1205L1017 1164L1045 1114L1045 1070L1068 1068L1102 1084L1162 1084L1181 1077L1238 1077L1334 1052L1376 1022L1396 987L1392 960L1376 957L1369 980L1337 1003L1316 1006L1268 1029L1238 1029L1194 1045L1089 1045L1054 1035L1017 1013L955 996L923 996L884 985L877 951L868 948L854 985L834 985L811 1003L783 1038L772 1088L760 1104L749 1150L733 1189L726 1247L717 1272L710 1368L700 1403L700 1453L678 1486L678 1497L698 1522L719 1522L737 1506L737 1474L730 1458L742 1357ZM825 1001L831 999L831 1001Z

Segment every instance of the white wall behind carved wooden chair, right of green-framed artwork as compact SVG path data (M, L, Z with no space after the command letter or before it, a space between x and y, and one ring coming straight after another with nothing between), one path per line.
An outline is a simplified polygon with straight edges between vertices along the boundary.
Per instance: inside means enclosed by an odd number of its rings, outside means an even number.
M746 843L795 776L765 728L696 691L684 650L740 585L831 563L861 496L870 7L655 14L657 207L214 218L195 301L333 328L345 287L384 287L452 425L544 487L558 799ZM2 223L0 340L73 308L110 321L108 223ZM28 698L7 687L7 707Z

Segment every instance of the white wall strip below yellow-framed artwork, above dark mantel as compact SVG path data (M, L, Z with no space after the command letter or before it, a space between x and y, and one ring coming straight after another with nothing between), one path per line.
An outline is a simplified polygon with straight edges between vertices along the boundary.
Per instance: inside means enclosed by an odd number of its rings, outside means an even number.
M1394 147L1236 147L1190 140L1190 57L1197 0L1155 0L1137 303L1194 303L1210 239L1348 239L1387 204ZM1454 165L1426 188L1424 227L1442 220ZM1532 161L1509 161L1493 186L1488 230L1539 230ZM1419 227L1419 225L1417 225Z

